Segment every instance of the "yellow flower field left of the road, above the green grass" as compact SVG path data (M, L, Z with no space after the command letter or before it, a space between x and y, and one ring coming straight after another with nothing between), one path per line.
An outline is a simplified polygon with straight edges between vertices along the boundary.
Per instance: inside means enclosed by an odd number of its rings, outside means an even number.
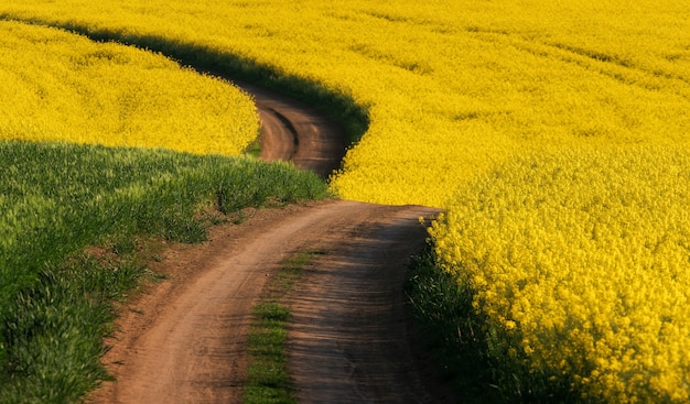
M251 99L161 55L0 21L0 140L240 154Z

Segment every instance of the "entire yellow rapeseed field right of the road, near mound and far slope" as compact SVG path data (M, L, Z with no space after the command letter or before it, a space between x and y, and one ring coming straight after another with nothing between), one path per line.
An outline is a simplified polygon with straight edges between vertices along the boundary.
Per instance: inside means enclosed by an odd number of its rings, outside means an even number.
M616 403L690 400L689 14L666 0L0 4L344 99L331 112L368 127L331 188L448 209L435 255L485 320L498 387Z

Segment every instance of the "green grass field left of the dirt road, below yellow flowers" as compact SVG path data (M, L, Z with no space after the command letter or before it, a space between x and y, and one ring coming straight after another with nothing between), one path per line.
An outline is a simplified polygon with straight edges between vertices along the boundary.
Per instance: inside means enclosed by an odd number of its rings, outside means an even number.
M223 214L327 196L290 164L163 150L0 142L0 403L75 402L107 379L111 303L147 273L138 240L197 242Z

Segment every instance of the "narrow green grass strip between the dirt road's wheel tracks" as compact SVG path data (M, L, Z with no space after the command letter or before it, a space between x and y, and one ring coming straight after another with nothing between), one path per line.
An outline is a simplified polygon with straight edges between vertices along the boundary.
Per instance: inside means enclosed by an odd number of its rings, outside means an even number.
M305 250L283 261L282 267L269 281L265 297L254 307L245 404L297 403L288 373L287 340L291 313L282 299L313 256L324 253Z

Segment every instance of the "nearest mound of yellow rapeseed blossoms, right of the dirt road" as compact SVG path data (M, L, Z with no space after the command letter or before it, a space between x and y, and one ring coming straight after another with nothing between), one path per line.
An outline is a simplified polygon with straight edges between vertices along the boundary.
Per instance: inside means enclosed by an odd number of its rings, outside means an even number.
M532 372L606 402L684 403L688 184L688 148L524 157L462 187L431 234Z

